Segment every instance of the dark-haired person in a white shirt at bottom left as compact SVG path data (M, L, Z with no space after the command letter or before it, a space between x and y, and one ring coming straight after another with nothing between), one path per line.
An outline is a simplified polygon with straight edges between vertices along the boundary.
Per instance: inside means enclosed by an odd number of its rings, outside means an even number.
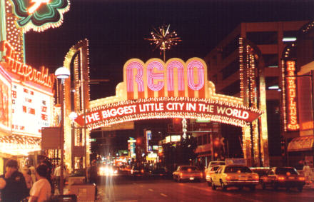
M39 165L36 168L37 181L31 187L29 192L29 202L42 202L46 201L51 196L51 186L47 180L49 168L46 165Z

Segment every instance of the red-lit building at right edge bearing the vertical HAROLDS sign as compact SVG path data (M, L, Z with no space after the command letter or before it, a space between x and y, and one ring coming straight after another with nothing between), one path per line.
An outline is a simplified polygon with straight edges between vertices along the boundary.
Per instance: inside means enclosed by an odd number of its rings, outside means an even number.
M314 156L314 22L305 24L297 40L285 47L282 56L283 77L285 77L285 133L288 146L288 163L307 161L313 168ZM295 70L291 75L290 71ZM290 76L291 75L291 76ZM291 89L293 89L291 91ZM296 117L295 117L296 110ZM296 119L296 120L295 120ZM295 121L298 130L289 127ZM293 128L292 128L293 129Z

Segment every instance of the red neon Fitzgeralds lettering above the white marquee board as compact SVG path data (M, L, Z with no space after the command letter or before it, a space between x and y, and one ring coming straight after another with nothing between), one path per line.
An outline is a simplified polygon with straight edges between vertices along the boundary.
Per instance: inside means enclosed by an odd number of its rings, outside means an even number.
M24 81L32 81L36 84L46 86L52 89L54 86L54 74L48 74L48 69L41 67L41 71L18 61L13 46L7 41L1 41L0 51L5 51L4 59L9 64L9 71L22 76Z

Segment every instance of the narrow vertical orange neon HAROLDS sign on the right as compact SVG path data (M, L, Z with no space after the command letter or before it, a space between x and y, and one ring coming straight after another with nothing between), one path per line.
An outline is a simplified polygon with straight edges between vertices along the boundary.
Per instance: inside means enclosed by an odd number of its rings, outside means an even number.
M295 61L287 61L287 94L288 94L288 123L289 130L300 128L297 117L297 104L295 101Z

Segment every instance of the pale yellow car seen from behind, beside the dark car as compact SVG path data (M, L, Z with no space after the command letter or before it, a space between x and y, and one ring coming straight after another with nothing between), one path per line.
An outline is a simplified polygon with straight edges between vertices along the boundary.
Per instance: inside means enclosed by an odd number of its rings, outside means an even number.
M248 166L228 165L220 166L218 170L211 175L213 190L220 186L223 191L228 187L236 186L239 189L243 187L250 188L251 191L255 190L258 185L258 174L253 173Z

